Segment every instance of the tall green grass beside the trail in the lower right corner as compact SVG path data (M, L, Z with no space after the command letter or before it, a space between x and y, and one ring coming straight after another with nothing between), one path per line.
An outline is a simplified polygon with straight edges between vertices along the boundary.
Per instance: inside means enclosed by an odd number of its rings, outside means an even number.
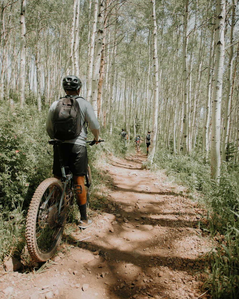
M209 201L214 248L208 255L208 286L214 299L239 298L238 170L221 167L220 184Z

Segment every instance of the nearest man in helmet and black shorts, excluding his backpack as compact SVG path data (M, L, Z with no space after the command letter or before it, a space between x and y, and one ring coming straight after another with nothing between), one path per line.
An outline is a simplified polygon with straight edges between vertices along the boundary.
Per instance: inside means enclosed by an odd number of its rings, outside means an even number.
M77 98L82 87L82 82L78 77L69 75L63 79L62 86L65 90L66 97ZM96 143L101 138L99 137L99 122L94 114L94 110L91 104L88 101L84 100L82 97L78 97L76 100L79 103L82 130L76 138L63 141L63 143L61 144L61 152L64 165L69 166L69 169L73 173L75 188L80 189L80 186L82 187L82 193L76 193L77 204L81 215L78 227L87 228L88 226L93 224L94 220L92 218L88 218L86 213L86 191L84 184L84 177L85 175L87 175L88 166L88 157L86 150L86 121L88 123L89 129L94 135L94 140L96 141ZM51 139L54 139L53 115L58 101L59 100L53 102L47 115L46 130ZM54 175L54 178L62 178L57 147L54 147L52 173Z

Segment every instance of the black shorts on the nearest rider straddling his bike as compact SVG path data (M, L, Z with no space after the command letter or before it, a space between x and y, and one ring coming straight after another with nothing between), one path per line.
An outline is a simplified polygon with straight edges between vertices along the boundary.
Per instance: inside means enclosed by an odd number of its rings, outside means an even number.
M87 175L88 157L86 147L73 143L62 143L60 147L63 165L68 166L75 176ZM52 173L56 176L62 176L59 154L56 146L54 146Z

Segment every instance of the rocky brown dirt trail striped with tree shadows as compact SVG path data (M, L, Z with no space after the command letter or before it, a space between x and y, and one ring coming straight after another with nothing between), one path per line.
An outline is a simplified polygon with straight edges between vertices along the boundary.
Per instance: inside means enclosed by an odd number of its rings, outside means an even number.
M204 268L198 257L206 250L197 231L202 212L162 173L141 170L145 159L140 151L112 158L101 174L108 203L93 215L94 226L69 225L71 243L59 247L46 271L1 271L0 298L198 298L196 273Z

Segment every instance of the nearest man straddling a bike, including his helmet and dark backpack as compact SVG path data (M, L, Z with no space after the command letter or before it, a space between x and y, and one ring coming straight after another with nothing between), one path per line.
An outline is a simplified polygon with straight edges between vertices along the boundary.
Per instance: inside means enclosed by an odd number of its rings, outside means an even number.
M80 78L69 75L64 77L62 87L66 96L52 103L50 106L46 130L51 139L62 140L61 152L65 166L73 173L75 190L82 187L82 193L76 193L77 204L80 211L79 228L87 228L94 220L87 217L86 191L84 178L87 175L88 157L86 150L87 130L85 123L94 135L96 143L99 137L99 122L95 116L91 103L79 97L82 87ZM71 121L69 121L71 119ZM62 173L57 147L54 147L53 156L54 178L61 179Z

